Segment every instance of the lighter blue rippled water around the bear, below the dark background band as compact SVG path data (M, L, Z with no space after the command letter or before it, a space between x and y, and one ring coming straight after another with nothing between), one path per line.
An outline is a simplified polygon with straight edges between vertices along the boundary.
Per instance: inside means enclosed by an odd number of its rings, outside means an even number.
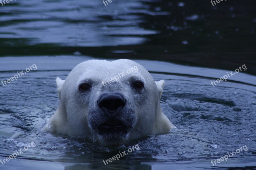
M228 70L138 60L155 80L165 80L161 106L178 129L169 134L136 139L120 147L103 147L92 144L92 140L42 132L41 128L58 106L55 78L65 79L76 64L88 59L92 58L0 58L3 63L1 79L12 77L31 64L37 66L17 81L0 86L1 159L23 149L21 143L34 141L36 144L35 148L29 148L18 159L0 168L210 168L211 160L244 145L248 151L218 166L255 166L256 82L255 76L243 72L213 87L210 81L225 75ZM112 164L103 164L103 159L112 158L136 144L139 151Z

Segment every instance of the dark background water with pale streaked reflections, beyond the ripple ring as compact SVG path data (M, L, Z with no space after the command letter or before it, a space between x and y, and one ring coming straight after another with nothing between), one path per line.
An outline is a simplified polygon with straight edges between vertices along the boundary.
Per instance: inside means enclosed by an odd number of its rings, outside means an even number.
M256 1L19 0L0 6L0 55L155 59L256 74ZM124 52L122 55L115 51Z

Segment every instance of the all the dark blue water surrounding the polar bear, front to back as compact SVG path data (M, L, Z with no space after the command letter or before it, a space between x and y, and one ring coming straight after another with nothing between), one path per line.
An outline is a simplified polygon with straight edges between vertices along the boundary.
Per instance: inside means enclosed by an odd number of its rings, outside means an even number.
M0 86L0 159L36 144L0 169L256 168L256 3L182 2L0 4L0 81L37 66ZM93 58L133 59L155 80L164 79L161 106L178 129L118 148L42 132L58 106L55 78L65 79L76 64ZM211 85L244 64L246 70ZM136 144L139 151L102 162ZM212 165L244 145L247 151Z

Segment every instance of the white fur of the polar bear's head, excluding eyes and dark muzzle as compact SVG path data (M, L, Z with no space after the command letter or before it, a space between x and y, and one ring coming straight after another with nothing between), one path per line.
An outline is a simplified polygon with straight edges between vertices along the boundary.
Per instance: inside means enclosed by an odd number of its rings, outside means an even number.
M106 81L121 72L137 66L138 71L133 71L125 77L111 82L103 87L102 81ZM132 90L129 84L132 76L145 82L143 94ZM80 95L78 85L85 79L93 81L92 91L87 95ZM134 109L135 124L122 142L124 144L132 139L151 134L168 133L175 128L169 119L163 114L160 99L163 92L164 80L155 82L148 71L138 63L131 60L89 60L78 64L68 75L66 80L56 79L59 107L51 117L44 130L64 133L70 136L93 137L93 130L89 123L89 111L97 107L95 102L102 92L121 92L129 105ZM101 119L99 117L99 119ZM135 120L135 119L134 119ZM103 141L97 134L95 140L102 144L114 144L115 142ZM116 144L116 143L115 143Z

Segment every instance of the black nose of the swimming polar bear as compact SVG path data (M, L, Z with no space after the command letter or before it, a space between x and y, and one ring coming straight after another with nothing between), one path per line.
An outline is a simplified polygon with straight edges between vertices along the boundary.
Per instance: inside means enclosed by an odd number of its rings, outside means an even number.
M106 93L98 101L99 107L108 115L115 115L125 105L126 101L119 93Z

